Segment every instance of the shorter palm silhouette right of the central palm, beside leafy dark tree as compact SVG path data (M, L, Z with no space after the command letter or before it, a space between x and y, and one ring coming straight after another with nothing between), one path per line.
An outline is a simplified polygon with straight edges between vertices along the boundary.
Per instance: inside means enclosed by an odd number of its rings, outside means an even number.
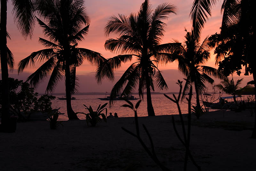
M187 30L185 31L187 32ZM175 40L175 43L179 43L179 41ZM196 36L192 29L191 32L187 32L185 43L176 48L173 53L179 63L178 69L187 77L182 98L188 93L189 87L194 84L196 106L200 108L199 94L202 93L206 87L205 82L213 84L214 80L211 76L220 79L225 78L217 69L203 65L210 59L208 37L200 44L200 38Z

